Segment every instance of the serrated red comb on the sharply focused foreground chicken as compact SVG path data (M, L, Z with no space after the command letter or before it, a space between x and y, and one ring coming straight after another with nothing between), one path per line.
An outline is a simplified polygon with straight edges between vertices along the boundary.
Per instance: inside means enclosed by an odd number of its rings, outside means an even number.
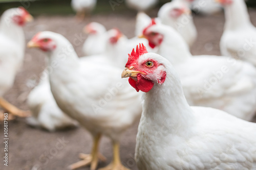
M125 65L125 67L130 67L131 64L135 63L139 59L139 57L145 53L147 53L147 50L146 50L146 47L144 46L144 44L141 43L141 44L139 44L139 46L137 45L136 52L133 48L132 53L128 54L129 57L128 57L128 61Z

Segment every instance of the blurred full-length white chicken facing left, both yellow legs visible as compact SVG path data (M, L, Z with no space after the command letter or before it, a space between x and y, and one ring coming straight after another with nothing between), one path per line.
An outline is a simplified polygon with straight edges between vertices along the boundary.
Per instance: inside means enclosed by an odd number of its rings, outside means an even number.
M50 65L58 63L50 74L54 99L63 112L77 120L94 138L92 153L83 154L84 159L70 168L91 164L91 169L96 169L98 159L103 159L98 153L99 139L105 135L113 141L114 155L112 163L101 169L127 169L119 158L119 140L140 117L141 103L140 94L121 79L121 69L93 60L81 65L71 43L53 32L36 34L28 46L46 52ZM68 51L59 57L63 48Z

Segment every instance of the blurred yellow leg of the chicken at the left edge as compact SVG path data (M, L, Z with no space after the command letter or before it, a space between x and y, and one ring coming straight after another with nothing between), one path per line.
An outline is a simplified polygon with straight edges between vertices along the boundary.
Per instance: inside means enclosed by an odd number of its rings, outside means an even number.
M31 115L29 111L23 111L18 109L17 107L13 106L2 97L0 97L0 106L15 116L28 117Z

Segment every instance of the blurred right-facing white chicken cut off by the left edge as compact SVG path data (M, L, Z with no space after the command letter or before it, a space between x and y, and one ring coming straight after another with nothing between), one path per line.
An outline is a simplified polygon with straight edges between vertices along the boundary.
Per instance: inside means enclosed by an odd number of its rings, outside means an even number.
M23 64L23 26L32 19L29 12L20 7L6 10L0 21L0 107L17 116L27 116L28 112L19 110L5 101L3 95L12 87L16 73Z

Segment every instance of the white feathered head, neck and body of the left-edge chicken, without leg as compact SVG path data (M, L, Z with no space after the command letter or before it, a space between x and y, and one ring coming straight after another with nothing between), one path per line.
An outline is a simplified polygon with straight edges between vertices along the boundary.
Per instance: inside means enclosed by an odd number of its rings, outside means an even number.
M9 9L1 17L0 96L12 87L15 75L23 63L25 35L22 27L12 21L12 16L19 12L18 8Z

